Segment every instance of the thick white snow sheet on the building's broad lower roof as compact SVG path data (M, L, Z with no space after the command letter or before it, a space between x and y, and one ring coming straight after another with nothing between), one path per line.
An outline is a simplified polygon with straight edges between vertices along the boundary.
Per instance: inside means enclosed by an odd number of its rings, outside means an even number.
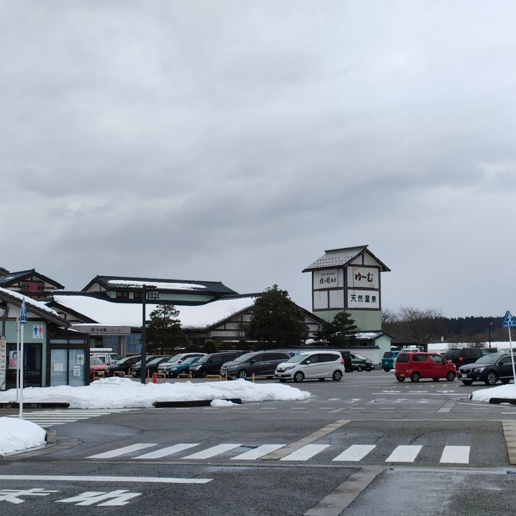
M53 300L65 309L83 314L87 318L106 326L129 326L141 328L142 306L140 303L119 303L86 295L54 294ZM175 305L183 329L206 329L216 325L233 314L246 310L254 304L255 295L228 296L206 304ZM146 303L146 319L150 318L157 304ZM75 326L75 325L74 325Z

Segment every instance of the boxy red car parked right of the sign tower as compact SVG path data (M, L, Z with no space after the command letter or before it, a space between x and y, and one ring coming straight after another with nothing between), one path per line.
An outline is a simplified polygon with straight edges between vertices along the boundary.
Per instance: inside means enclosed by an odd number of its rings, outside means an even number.
M439 353L400 352L396 357L395 375L399 382L405 381L405 378L413 382L421 378L431 378L433 381L446 378L451 382L455 380L457 372L453 362L448 362Z

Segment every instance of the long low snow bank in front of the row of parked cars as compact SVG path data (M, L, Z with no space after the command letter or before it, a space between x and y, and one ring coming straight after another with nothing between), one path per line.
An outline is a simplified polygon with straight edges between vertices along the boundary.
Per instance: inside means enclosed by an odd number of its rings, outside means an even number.
M13 390L0 393L0 402L14 402ZM102 378L91 385L27 387L26 403L65 402L75 409L152 407L155 401L192 401L240 398L242 401L302 400L309 392L282 383L256 384L245 380L222 382L139 383L128 378Z

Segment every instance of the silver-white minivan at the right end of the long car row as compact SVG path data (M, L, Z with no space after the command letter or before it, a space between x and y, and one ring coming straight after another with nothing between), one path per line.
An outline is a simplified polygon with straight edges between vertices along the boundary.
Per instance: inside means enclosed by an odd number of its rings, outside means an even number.
M338 381L344 374L344 359L338 351L303 351L278 365L275 378L280 382L317 378Z

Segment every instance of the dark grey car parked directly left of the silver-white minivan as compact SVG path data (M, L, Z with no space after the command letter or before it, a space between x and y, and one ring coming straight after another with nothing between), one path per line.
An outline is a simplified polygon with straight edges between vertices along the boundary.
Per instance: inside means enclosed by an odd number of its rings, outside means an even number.
M252 351L236 357L231 362L222 364L220 374L228 374L228 378L242 378L246 380L252 376L265 376L273 378L276 367L292 357L288 351Z

